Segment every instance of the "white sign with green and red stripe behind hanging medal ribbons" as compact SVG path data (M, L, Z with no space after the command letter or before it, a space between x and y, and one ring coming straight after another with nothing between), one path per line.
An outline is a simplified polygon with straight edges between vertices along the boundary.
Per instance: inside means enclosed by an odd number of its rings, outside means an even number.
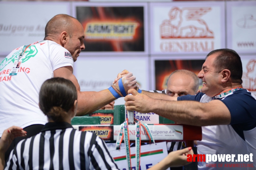
M110 155L115 160L115 163L119 169L129 170L126 160L125 148L121 148L120 150L112 150L110 151ZM154 166L163 160L167 155L168 153L166 142L141 146L140 170L146 170ZM131 164L132 169L135 169L135 147L131 147Z

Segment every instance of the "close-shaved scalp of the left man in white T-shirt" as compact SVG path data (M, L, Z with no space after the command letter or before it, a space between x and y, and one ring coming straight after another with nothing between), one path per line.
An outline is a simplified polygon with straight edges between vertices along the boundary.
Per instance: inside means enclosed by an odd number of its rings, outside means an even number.
M66 31L69 36L72 36L72 27L74 25L74 21L77 20L76 18L69 16L67 14L58 14L55 15L49 22L46 24L45 27L45 37L56 37L61 32Z

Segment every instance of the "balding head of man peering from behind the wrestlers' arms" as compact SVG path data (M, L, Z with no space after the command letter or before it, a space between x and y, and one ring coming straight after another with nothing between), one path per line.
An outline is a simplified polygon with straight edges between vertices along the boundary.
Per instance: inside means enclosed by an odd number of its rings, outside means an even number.
M170 96L195 95L198 92L199 79L188 70L176 70L168 78L167 94Z

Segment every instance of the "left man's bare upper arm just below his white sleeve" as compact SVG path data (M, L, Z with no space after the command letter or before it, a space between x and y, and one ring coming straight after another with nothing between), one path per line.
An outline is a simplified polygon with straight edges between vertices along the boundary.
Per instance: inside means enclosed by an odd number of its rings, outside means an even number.
M75 84L77 90L80 91L80 86L78 84L77 78L75 75L73 75L73 68L71 66L60 67L54 70L53 77L62 77L72 81Z

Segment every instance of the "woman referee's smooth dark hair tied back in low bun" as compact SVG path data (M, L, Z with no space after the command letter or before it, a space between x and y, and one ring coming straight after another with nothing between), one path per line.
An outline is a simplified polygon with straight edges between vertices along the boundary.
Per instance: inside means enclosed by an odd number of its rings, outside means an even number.
M54 122L63 122L67 112L77 100L75 85L65 78L46 80L39 92L39 106L42 112Z

